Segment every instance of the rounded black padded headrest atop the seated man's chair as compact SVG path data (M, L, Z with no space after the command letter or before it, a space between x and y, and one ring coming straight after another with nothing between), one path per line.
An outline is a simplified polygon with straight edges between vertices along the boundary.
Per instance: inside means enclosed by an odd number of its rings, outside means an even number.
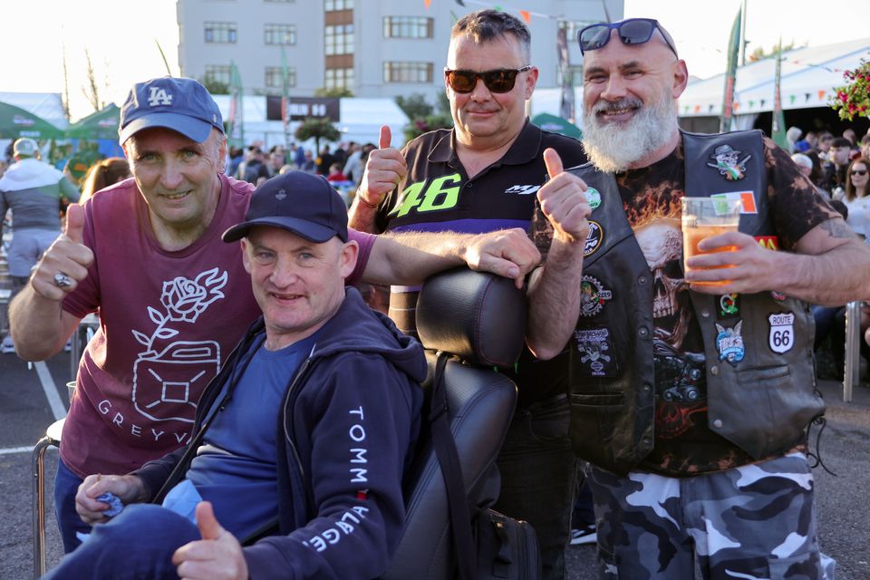
M525 344L525 292L509 278L468 268L434 275L417 299L417 333L427 349L512 366Z

